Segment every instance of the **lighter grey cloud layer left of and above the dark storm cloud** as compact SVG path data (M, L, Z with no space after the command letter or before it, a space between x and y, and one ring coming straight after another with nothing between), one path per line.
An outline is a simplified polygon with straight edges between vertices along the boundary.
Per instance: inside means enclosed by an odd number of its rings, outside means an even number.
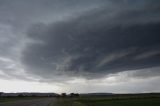
M0 71L3 76L24 77L19 74L23 70L19 58L27 42L24 32L28 26L62 20L71 13L78 14L99 4L97 0L91 4L84 0L0 0Z

